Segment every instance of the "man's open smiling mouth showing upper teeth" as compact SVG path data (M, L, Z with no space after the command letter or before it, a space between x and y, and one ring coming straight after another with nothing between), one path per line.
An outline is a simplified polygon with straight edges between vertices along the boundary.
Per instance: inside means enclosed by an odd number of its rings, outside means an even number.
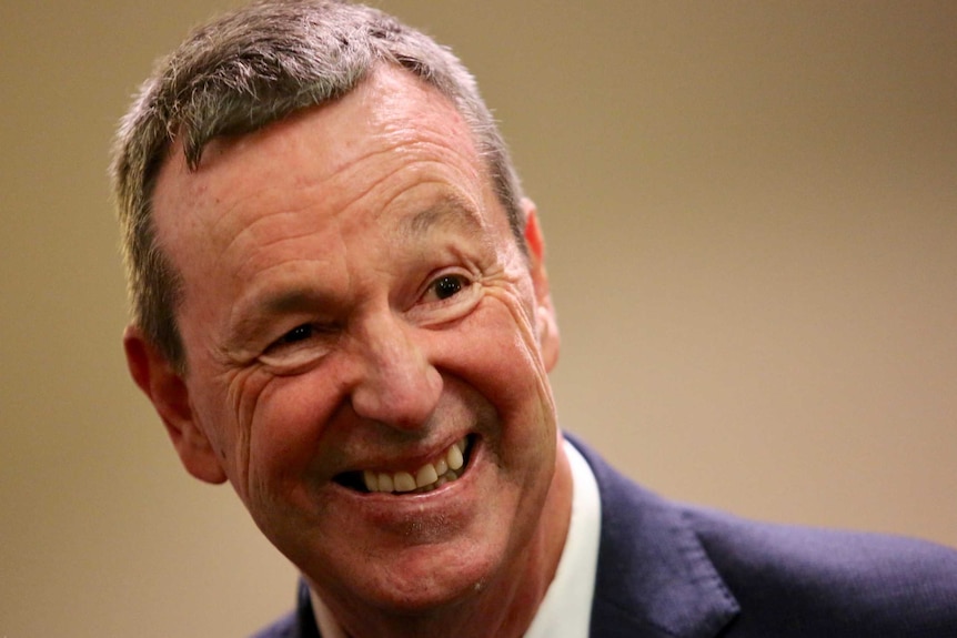
M363 493L424 494L457 479L465 473L473 444L474 436L463 437L450 445L431 463L411 470L344 472L334 480L344 487Z

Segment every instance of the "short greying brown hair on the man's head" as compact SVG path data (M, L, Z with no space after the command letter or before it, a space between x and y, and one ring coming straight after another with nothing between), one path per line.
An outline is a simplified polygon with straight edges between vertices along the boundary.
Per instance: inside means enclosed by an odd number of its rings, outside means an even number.
M452 52L375 9L335 0L260 1L195 29L162 59L121 120L110 168L133 322L180 372L180 274L157 244L157 174L179 140L195 170L221 135L250 133L341 98L380 64L412 72L461 113L524 247L521 186L474 78Z

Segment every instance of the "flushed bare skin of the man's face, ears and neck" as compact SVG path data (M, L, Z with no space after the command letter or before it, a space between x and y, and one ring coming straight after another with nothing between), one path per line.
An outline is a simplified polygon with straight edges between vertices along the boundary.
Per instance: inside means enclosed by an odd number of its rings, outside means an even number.
M174 146L153 202L189 372L135 326L124 346L185 468L229 480L350 636L521 636L571 512L558 333L534 206L526 255L454 108L382 68L195 172ZM433 492L341 484L465 436Z

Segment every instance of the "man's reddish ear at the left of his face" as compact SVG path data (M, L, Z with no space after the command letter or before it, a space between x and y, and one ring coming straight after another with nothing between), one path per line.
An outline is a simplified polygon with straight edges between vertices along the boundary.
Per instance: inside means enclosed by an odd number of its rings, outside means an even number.
M123 333L123 350L130 375L157 408L187 472L206 483L225 482L219 456L195 422L183 377L137 326Z

